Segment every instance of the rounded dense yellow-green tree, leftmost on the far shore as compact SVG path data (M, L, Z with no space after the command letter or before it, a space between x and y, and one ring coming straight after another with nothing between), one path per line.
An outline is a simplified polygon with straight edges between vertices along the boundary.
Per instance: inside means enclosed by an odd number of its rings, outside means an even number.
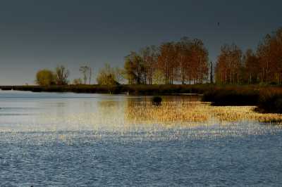
M39 70L36 74L36 81L40 86L50 86L55 84L55 76L51 70Z

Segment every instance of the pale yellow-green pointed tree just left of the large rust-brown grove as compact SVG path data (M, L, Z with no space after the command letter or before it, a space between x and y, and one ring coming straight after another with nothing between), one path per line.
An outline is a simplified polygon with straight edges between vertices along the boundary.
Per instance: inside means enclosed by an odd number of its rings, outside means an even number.
M99 70L97 82L101 85L118 84L114 68L111 68L111 66L106 63L105 66Z

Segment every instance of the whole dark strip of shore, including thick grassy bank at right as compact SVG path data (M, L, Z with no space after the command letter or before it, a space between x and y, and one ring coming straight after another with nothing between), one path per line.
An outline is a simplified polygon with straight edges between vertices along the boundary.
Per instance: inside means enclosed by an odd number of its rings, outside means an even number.
M66 86L0 86L1 90L33 92L108 93L143 96L202 95L212 105L255 105L258 112L282 113L282 86L216 85L216 84L153 84L153 85L66 85Z

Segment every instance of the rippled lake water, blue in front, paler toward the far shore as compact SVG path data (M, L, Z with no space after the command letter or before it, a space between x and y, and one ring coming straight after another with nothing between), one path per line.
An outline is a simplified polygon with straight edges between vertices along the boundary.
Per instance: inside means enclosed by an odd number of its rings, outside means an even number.
M0 186L282 186L281 126L152 117L149 99L0 91Z

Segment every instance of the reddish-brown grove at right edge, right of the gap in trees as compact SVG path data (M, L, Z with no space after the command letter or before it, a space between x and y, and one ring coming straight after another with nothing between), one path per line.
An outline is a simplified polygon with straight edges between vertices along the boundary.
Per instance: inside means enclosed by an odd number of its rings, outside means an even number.
M243 53L235 44L223 45L215 75L218 84L281 84L282 28L266 34L256 51Z

